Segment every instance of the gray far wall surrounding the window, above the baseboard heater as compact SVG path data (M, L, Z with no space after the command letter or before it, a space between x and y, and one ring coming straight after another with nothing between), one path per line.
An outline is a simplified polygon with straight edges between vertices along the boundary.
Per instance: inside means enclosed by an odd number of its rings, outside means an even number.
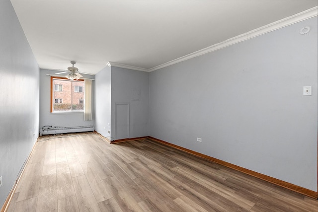
M93 126L92 121L84 121L84 112L74 113L51 113L51 76L47 74L55 74L59 71L40 70L40 126L49 125L57 127L79 127ZM94 76L82 74L83 78L93 79ZM92 102L94 102L94 81L92 91ZM94 105L93 105L94 108Z

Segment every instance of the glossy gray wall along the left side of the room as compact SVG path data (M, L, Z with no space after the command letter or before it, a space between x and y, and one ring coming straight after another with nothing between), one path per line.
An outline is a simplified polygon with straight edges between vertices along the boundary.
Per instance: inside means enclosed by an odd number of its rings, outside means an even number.
M9 0L0 0L0 207L39 128L39 67Z

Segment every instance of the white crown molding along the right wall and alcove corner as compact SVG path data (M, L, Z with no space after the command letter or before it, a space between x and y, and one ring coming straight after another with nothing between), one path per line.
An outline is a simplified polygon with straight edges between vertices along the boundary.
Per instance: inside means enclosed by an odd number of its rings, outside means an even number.
M153 67L151 69L133 67L133 66L128 66L128 65L118 64L118 63L113 63L113 62L108 62L107 65L109 66L109 64L110 64L111 66L125 68L125 69L132 69L132 70L137 70L137 71L146 71L146 72L156 71L156 70L171 66L173 64L180 63L182 61L186 61L186 60L189 60L191 58L195 58L195 57L198 57L200 55L204 55L204 54L231 46L233 44L257 37L259 35L263 35L263 34L268 33L268 32L272 32L274 30L277 30L277 29L280 29L280 28L283 28L283 27L292 25L294 23L298 23L298 22L301 22L301 21L304 21L304 20L307 20L309 18L316 17L316 16L318 16L318 6L307 9L307 10L300 12L300 13L297 13L295 15L283 18L281 20L275 21L273 23L267 24L265 26L259 27L257 29L251 30L249 32L243 33L243 34L238 35L236 37L225 40L221 43L217 43L217 44L209 46L207 48L198 50L196 52L193 52L193 53L190 53L188 55L182 56L180 58L174 59L172 61L166 62L164 64Z

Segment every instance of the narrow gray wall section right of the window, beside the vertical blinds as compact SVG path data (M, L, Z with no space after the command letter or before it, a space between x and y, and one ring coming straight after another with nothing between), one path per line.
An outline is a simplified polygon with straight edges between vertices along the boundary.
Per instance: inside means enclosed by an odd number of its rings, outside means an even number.
M107 66L95 74L95 90L95 128L102 136L110 139L108 130L111 117L111 67Z

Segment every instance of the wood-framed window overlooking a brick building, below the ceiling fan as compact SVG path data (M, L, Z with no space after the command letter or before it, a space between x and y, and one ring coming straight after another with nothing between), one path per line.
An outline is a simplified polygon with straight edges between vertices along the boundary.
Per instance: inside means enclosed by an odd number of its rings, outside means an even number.
M84 80L51 76L51 112L84 112L84 95Z

